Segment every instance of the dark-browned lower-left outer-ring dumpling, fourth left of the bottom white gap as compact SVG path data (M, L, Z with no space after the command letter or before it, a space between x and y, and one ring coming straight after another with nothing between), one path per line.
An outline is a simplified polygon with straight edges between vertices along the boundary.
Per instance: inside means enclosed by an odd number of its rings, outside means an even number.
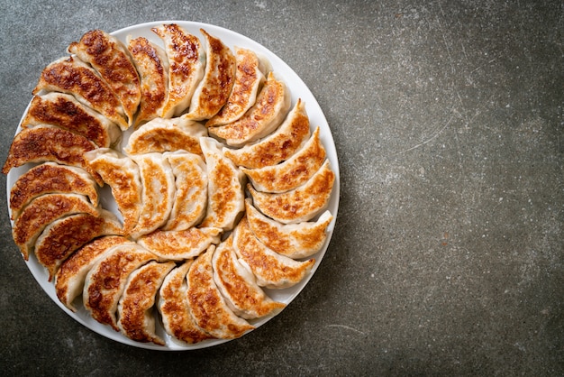
M113 213L102 208L98 212L98 216L77 214L59 218L47 225L37 238L34 253L49 271L49 280L79 247L101 235L122 233L122 225Z

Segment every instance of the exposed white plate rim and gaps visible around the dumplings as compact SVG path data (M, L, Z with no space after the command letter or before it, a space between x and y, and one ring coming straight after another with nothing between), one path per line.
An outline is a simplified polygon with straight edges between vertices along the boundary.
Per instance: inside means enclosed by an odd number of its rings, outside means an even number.
M327 157L328 157L329 161L331 161L332 170L335 172L335 176L336 176L334 188L332 190L332 197L331 197L329 207L328 207L328 209L332 213L333 219L332 219L332 223L329 225L329 227L327 229L328 236L327 236L327 240L325 241L325 244L323 245L322 250L319 253L314 254L314 256L313 256L315 258L316 262L314 264L314 268L311 271L311 273L308 276L306 276L304 280L302 280L300 283L298 283L297 285L295 285L291 288L287 288L287 289L284 289L284 290L265 290L266 293L268 294L268 296L270 296L272 299L275 299L277 301L289 304L290 302L292 302L293 299L296 298L296 296L299 294L299 292L304 289L305 284L307 284L307 282L312 278L312 276L314 275L314 272L319 267L319 264L323 259L323 255L327 251L327 247L329 245L329 242L330 242L331 236L332 236L332 232L333 232L333 227L335 225L335 221L336 221L336 218L337 218L337 210L338 210L338 207L339 207L339 191L340 191L340 189L339 189L339 187L340 187L339 186L339 162L337 161L337 152L335 150L335 144L334 144L333 139L332 139L332 133L331 133L331 129L329 128L329 124L327 124L327 120L325 119L325 116L323 115L323 111L322 111L321 107L319 106L319 104L317 103L317 101L315 100L314 95L311 93L311 91L305 85L304 81L302 81L302 79L299 78L296 75L296 72L294 72L294 70L290 69L287 66L287 64L283 60L280 60L274 53L272 53L271 51L268 51L268 49L266 49L265 47L263 47L262 45L260 45L256 41L252 41L249 38L247 38L247 37L245 37L245 36L243 36L243 35L241 35L237 32L232 32L230 30L223 29L222 27L218 27L218 26L214 26L214 25L210 25L210 24L206 24L206 23L194 23L194 22L186 22L186 21L161 21L161 22L141 23L141 24L133 25L133 26L118 30L116 32L112 32L112 34L123 42L126 41L126 38L127 38L128 35L132 35L132 37L142 36L142 37L145 37L145 38L149 39L150 41L162 46L162 42L160 41L159 37L156 34L154 34L153 32L150 31L151 27L157 26L157 25L162 24L162 23L177 23L180 26L184 27L186 29L186 31L192 32L193 34L195 34L197 36L201 36L201 33L199 32L199 30L200 30L200 28L203 28L203 29L205 29L206 32L209 32L210 34L214 35L215 37L220 38L223 41L223 43L225 43L226 45L228 45L232 49L233 49L234 46L241 46L241 47L244 47L244 48L250 49L252 51L259 52L259 53L263 54L264 56L266 56L268 58L268 60L270 60L270 62L272 64L273 71L277 73L279 78L283 78L285 80L285 82L287 83L287 87L289 87L289 89L292 93L292 105L296 104L297 98L302 98L302 100L305 101L305 107L306 107L306 110L307 110L307 114L309 115L309 118L310 118L311 126L312 127L315 127L315 126L320 127L321 139L322 139L323 145L325 146L325 149L327 151ZM77 35L77 39L79 37L80 37L80 35ZM71 42L71 41L69 41L69 42ZM63 56L63 55L64 55L64 51L61 51L61 56ZM39 75L38 75L38 78L39 78ZM21 128L18 126L16 133L20 132L20 130L21 130ZM127 136L128 136L127 133L123 134L123 145L125 145L125 141L127 140ZM29 166L29 165L24 165L20 168L13 169L8 173L8 176L7 176L7 179L6 179L7 180L6 189L7 189L8 200L10 198L10 189L14 186L14 182L23 174L23 172L29 170L30 167L31 166ZM114 213L116 213L116 215L119 216L119 213L116 212L116 209L115 209L115 206L114 206L114 200L112 198L111 191L108 190L108 189L103 189L101 191L101 197L102 197L102 200L101 200L102 205L104 207L106 207L106 209L113 210ZM8 208L9 207L10 206L9 206L9 203L8 203ZM96 322L95 319L90 317L90 315L88 314L88 312L86 311L85 308L79 307L77 313L73 313L72 311L68 310L68 308L66 308L63 304L61 304L59 299L57 298L56 293L55 293L54 285L50 281L48 281L49 275L48 275L47 271L43 268L43 266L41 266L41 264L39 262L37 262L37 260L35 259L35 256L33 254L30 255L30 259L27 262L27 266L30 269L30 271L32 271L32 275L35 277L35 279L41 285L41 288L43 290L45 290L45 292L50 296L50 298L53 301L55 301L57 303L57 305L59 305L59 307L62 310L64 310L70 317L73 317L79 323L81 323L82 325L90 328L91 330L95 331L96 333L98 333L102 336L106 336L110 339L114 339L117 342L121 342L121 343L126 344L126 345L133 345L133 346L136 346L136 347L149 348L149 349L155 349L155 350L190 350L190 349L197 349L197 348L205 348L205 347L209 347L209 346L212 346L212 345L219 345L219 344L227 342L227 340L209 340L209 341L204 341L204 342L198 343L196 345L180 345L177 342L175 342L172 339L171 336L168 336L165 333L165 331L162 329L162 327L159 326L159 324L158 324L158 334L159 334L159 336L161 336L166 341L165 346L143 344L143 343L139 343L139 342L134 342L131 339L129 339L128 337L123 336L121 333L115 332L114 329L112 329L110 326L104 326L104 325L101 325L98 322ZM274 317L274 316L261 317L257 320L250 321L250 323L253 326L259 327L259 326L262 326L265 323L267 323L268 320L271 319L272 317Z

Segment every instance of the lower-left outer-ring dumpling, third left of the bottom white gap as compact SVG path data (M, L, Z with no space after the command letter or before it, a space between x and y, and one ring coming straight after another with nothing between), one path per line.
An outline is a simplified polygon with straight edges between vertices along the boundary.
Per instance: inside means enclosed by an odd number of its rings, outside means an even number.
M60 302L73 312L73 301L82 294L86 273L100 260L106 250L118 244L132 244L121 235L107 235L85 244L63 262L55 275L55 291Z

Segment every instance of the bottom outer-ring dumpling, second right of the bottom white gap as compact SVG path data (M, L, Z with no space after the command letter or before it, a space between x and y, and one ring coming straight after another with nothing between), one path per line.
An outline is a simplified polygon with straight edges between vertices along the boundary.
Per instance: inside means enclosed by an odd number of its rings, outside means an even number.
M212 268L214 251L215 246L212 245L192 263L186 275L186 296L198 326L217 338L233 339L254 326L235 316L215 285Z

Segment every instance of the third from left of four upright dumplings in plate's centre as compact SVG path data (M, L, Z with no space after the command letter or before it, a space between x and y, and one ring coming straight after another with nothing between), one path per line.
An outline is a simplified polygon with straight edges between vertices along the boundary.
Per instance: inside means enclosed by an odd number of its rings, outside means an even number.
M189 152L167 152L175 177L174 205L164 230L185 230L198 224L207 206L207 168L200 156Z

